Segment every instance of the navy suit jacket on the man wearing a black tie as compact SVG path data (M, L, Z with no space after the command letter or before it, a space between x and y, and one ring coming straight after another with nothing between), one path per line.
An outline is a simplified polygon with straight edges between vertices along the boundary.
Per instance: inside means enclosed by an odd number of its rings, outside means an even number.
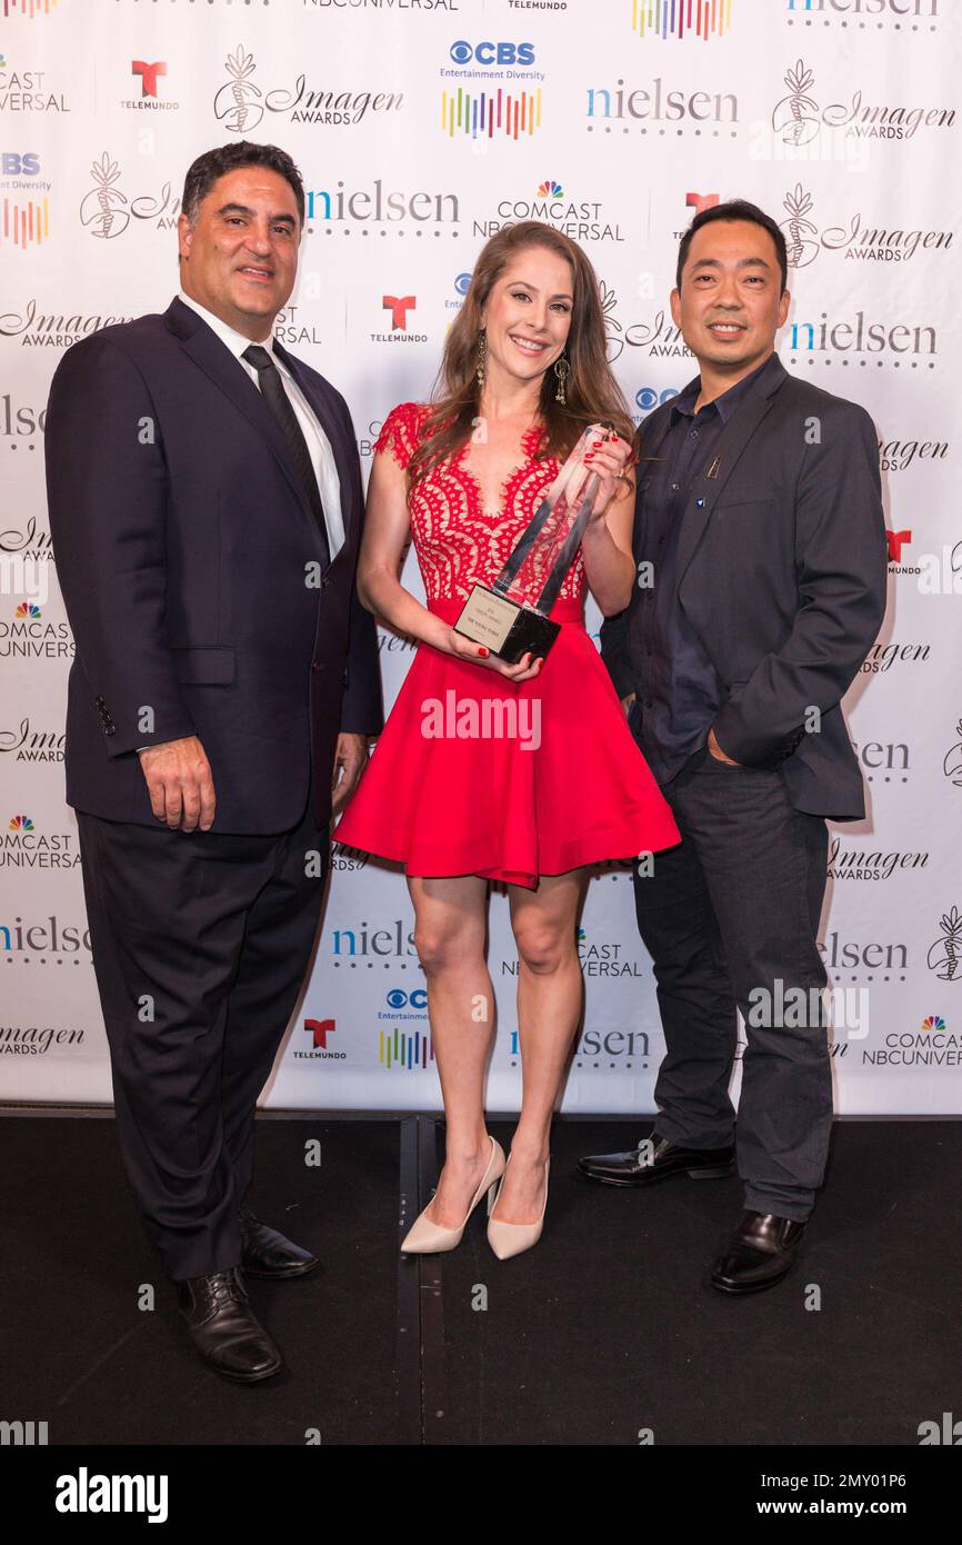
M76 640L66 799L158 825L137 746L198 735L213 831L295 825L315 772L330 819L338 731L383 726L375 623L357 598L361 473L344 399L275 345L327 434L344 544L318 528L242 365L179 298L103 328L54 374L46 488Z

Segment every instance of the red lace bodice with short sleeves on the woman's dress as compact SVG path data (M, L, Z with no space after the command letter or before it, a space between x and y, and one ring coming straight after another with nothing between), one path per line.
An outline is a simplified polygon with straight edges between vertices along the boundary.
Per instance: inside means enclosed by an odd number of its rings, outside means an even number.
M428 405L401 402L384 419L375 451L389 450L398 467L408 467L418 443ZM534 514L539 501L559 473L556 457L536 460L544 430L528 430L525 460L502 484L500 510L488 514L480 485L465 459L463 445L445 465L432 467L411 494L411 536L429 601L463 598L476 581L491 584L511 548ZM531 570L531 573L530 573ZM547 575L525 565L525 599L534 601ZM581 550L565 576L561 595L581 601L585 567Z

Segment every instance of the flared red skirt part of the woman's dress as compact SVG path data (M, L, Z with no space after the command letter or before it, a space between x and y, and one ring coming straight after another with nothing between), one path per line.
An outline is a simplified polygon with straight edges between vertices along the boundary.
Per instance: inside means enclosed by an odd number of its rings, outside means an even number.
M462 601L429 601L457 621ZM408 874L542 874L656 853L681 840L627 726L578 601L540 674L513 683L418 644L334 837Z

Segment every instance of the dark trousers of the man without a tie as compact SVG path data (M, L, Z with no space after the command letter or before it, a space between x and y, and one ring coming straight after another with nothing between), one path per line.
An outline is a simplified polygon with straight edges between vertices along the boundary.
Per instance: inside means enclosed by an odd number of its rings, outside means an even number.
M780 771L707 752L662 793L683 844L655 854L652 876L635 874L667 1046L655 1129L692 1148L737 1136L746 1208L803 1221L832 1123L828 978L815 944L828 828L789 803ZM747 1040L737 1134L735 1006Z

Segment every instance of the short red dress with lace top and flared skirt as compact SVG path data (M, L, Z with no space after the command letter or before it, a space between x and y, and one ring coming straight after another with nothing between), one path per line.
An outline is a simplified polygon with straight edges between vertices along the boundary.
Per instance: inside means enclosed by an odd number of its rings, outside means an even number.
M412 402L394 408L375 451L406 467L426 413ZM497 514L482 507L468 445L415 485L414 550L426 606L445 621L457 621L476 581L496 579L557 476L557 460L536 460L542 434L525 436ZM533 890L540 874L681 840L585 632L584 592L579 552L551 610L561 633L528 681L417 646L338 842L401 861L408 874L480 874Z

